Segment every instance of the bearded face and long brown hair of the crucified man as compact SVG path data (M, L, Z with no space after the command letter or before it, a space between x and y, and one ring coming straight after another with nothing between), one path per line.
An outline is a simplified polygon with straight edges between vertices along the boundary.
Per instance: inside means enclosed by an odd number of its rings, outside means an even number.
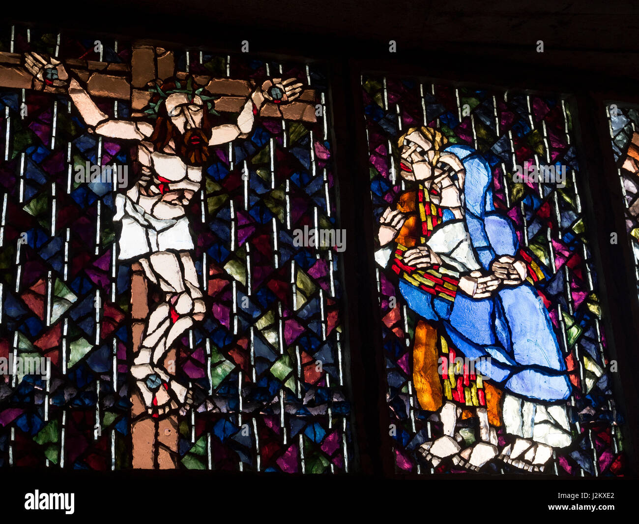
M173 93L160 109L151 141L158 151L173 142L174 150L189 166L208 163L211 126L200 97Z

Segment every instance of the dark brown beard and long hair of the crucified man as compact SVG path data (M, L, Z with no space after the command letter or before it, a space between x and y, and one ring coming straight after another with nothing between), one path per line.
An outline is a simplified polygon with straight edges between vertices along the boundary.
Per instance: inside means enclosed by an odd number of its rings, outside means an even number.
M210 134L211 126L208 122L206 111L204 111L202 118L202 129L189 129L185 134L182 134L180 129L171 122L171 118L160 115L155 121L150 140L158 152L164 151L164 148L173 140L175 152L182 161L189 166L200 167L208 163ZM197 145L190 143L194 137L199 138Z

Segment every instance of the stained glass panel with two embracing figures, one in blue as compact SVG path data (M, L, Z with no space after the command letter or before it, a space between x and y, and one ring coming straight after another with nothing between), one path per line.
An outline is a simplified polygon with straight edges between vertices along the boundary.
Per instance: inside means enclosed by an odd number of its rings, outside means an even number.
M396 472L622 473L569 100L362 95Z

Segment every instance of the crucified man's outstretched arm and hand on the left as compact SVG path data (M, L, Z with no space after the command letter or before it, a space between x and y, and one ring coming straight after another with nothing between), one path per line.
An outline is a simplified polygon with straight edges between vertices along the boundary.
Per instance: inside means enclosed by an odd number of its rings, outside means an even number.
M109 118L91 99L86 89L68 75L65 66L59 60L35 52L26 53L24 60L27 70L43 83L66 86L82 120L96 134L109 138L143 140L153 133L153 126L148 122Z

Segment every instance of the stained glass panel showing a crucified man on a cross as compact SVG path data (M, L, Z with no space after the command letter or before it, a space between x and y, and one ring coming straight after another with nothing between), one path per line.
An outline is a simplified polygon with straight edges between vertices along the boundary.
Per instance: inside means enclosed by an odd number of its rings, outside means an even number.
M323 66L1 46L0 464L348 472Z

